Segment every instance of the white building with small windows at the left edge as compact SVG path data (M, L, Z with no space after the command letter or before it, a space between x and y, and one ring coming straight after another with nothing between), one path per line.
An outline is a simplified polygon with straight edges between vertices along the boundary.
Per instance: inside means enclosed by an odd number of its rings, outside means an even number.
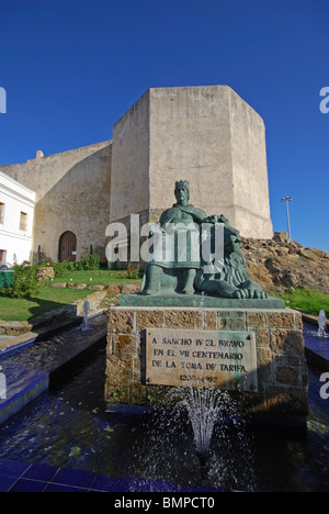
M31 261L35 192L0 171L0 264Z

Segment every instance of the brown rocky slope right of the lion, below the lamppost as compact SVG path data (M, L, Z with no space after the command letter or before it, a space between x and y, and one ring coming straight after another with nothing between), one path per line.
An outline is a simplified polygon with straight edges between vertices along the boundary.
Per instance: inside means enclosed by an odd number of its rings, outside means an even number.
M290 288L316 289L329 294L329 254L304 248L290 241L285 232L272 239L242 239L248 270L253 280L270 294Z

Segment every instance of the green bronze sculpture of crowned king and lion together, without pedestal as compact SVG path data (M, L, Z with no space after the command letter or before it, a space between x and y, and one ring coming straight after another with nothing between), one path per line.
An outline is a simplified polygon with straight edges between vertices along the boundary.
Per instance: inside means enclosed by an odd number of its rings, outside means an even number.
M163 211L150 232L152 254L146 266L141 294L193 294L197 291L219 298L268 298L248 272L239 232L223 214L207 217L204 211L190 204L186 180L175 182L174 194L177 203ZM200 226L204 223L211 226L208 259L202 252ZM222 259L211 253L219 227L224 239L220 241Z

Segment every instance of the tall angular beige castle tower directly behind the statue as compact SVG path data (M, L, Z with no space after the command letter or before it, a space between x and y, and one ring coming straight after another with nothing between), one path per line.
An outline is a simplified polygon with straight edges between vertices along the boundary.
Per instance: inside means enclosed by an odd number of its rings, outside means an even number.
M152 88L115 123L111 222L157 221L180 179L208 215L272 237L264 123L228 86Z

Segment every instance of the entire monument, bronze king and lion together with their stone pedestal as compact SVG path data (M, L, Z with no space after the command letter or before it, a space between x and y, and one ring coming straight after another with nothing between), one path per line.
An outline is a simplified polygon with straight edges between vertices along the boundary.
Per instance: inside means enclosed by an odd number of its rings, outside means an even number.
M234 392L240 412L259 421L304 425L300 313L252 280L239 232L223 214L207 217L190 204L186 181L174 194L151 228L161 237L149 242L140 292L121 295L109 311L105 401L145 405L163 387L188 394L192 380Z

